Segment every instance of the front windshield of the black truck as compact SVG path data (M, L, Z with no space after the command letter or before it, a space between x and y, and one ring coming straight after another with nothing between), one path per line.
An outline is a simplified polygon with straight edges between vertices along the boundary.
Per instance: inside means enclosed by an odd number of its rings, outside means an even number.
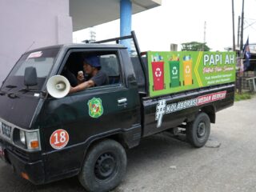
M31 86L30 88L35 90L42 90L42 85L46 81L46 78L50 73L52 66L54 65L58 51L59 48L54 48L23 54L3 83L2 90L24 88L25 69L29 66L33 66L36 69L38 77L38 85Z

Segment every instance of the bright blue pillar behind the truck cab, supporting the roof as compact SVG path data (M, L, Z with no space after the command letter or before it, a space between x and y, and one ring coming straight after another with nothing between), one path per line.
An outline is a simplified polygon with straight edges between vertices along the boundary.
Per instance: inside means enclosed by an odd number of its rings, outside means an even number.
M130 0L120 1L120 36L130 35L131 31L132 2ZM130 51L130 39L122 40L122 45Z

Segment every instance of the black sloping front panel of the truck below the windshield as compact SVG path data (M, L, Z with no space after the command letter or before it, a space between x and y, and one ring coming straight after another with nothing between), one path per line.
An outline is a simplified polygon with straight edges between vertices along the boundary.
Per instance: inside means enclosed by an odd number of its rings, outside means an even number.
M0 95L0 118L14 126L30 129L39 100L26 94L18 95L18 98Z

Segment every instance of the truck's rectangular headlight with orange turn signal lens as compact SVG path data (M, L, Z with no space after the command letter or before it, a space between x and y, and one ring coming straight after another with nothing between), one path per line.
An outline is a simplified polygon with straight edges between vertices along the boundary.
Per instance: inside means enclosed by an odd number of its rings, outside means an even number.
M14 129L14 144L25 150L40 150L38 130Z

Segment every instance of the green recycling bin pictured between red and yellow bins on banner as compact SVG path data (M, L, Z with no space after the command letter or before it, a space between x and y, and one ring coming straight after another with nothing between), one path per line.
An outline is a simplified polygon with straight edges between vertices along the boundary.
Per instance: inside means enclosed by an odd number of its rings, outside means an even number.
M181 86L179 75L179 61L169 61L170 66L170 87Z

